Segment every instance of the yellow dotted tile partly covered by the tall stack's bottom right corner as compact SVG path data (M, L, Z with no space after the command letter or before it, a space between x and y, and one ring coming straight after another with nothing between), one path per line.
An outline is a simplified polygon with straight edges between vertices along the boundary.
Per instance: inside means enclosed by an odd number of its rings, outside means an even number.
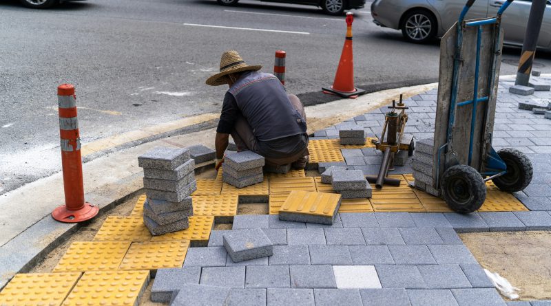
M189 228L178 230L178 232L169 232L160 236L154 236L151 241L208 241L212 228L214 228L214 217L191 216L189 217Z

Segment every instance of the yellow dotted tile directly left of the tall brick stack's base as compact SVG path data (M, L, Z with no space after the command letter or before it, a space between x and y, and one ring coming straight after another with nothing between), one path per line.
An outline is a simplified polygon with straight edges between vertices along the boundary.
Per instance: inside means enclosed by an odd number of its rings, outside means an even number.
M149 241L152 235L143 223L143 216L117 217L105 219L94 241Z

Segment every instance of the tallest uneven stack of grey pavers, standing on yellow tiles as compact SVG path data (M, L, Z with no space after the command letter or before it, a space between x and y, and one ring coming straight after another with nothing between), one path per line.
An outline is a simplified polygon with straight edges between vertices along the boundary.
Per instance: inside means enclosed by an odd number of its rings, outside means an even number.
M191 193L197 190L190 150L158 146L138 157L147 200L143 223L153 235L189 228L194 214Z

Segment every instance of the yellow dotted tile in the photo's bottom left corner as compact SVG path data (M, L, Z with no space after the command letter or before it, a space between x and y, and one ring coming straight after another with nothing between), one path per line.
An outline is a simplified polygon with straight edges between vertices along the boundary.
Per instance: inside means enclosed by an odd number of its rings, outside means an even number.
M79 277L80 272L16 274L0 292L0 305L59 306Z

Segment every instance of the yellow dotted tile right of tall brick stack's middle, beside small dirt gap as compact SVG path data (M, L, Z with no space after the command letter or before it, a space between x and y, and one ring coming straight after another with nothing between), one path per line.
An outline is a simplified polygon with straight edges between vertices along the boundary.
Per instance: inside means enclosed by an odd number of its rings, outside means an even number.
M237 215L237 195L192 196L194 216L230 217Z

